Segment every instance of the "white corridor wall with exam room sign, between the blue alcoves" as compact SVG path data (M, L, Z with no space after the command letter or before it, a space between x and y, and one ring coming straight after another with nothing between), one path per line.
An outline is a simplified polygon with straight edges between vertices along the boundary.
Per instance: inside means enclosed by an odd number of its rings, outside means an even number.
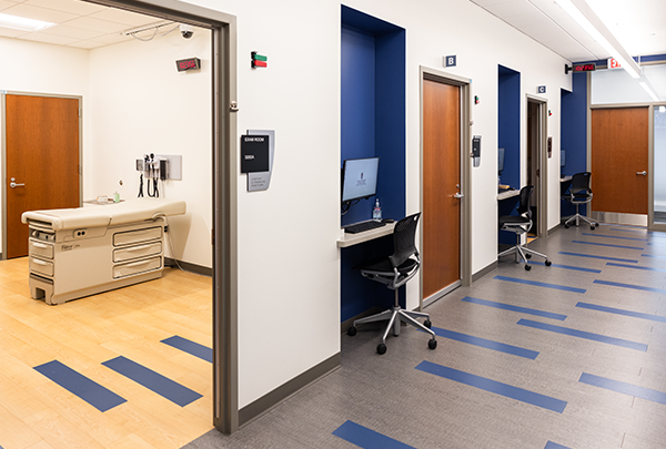
M245 192L239 177L239 402L244 407L340 348L340 11L339 1L188 0L238 18L239 134L274 129L271 188ZM420 65L473 80L472 134L483 135L485 157L472 172L473 271L496 261L497 64L522 72L522 95L542 95L553 110L548 135L548 227L559 222L559 90L571 89L565 61L467 0L350 0L346 6L406 29L407 213L420 210ZM251 51L269 68L251 70ZM526 111L522 102L522 146ZM526 174L523 174L526 178ZM312 227L293 229L299 220ZM408 285L417 304L418 280Z

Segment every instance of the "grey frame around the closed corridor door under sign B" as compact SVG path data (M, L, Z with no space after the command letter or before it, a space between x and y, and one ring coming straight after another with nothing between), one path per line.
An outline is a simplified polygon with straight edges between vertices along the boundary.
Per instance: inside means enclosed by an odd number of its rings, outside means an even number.
M471 170L472 160L470 157L472 149L472 131L471 131L471 80L468 78L457 76L441 70L420 65L418 68L418 94L420 94L420 210L423 211L423 81L434 81L443 84L454 85L461 89L461 193L464 195L461 198L461 280L453 283L444 289L431 295L427 298L423 297L423 271L420 271L420 293L418 306L420 309L436 302L453 289L463 286L472 285L472 234L471 234ZM423 226L420 227L418 237L423 242Z

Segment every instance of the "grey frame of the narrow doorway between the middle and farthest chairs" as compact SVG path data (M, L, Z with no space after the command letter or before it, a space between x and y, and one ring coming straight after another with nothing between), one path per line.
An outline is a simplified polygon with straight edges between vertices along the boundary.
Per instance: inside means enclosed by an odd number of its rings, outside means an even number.
M536 159L536 166L538 169L538 186L536 186L537 195L536 195L536 236L545 237L548 235L548 100L532 95L529 93L525 94L525 142L528 139L528 111L529 103L536 104L538 106L538 139L537 139L537 149L533 149L534 155ZM525 145L528 147L527 145ZM525 154L527 157L527 154ZM525 173L527 172L527 167L525 167ZM525 174L525 180L527 178Z

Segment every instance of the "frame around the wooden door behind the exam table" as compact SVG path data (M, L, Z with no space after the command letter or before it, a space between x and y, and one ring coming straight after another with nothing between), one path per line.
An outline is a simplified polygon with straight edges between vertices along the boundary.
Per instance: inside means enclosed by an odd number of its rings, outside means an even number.
M2 149L0 151L0 164L2 164L2 169L0 169L0 182L2 182L2 186L0 187L2 190L0 200L2 202L0 206L2 210L2 254L0 254L0 261L7 261L7 241L9 239L9 236L7 235L7 95L42 96L79 101L79 206L81 206L83 201L83 96L22 91L0 91L0 114L2 115L2 123L0 124L0 126L2 126Z

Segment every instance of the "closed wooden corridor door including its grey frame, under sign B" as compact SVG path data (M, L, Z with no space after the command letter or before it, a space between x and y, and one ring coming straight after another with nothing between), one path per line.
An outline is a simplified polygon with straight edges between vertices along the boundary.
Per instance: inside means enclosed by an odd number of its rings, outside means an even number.
M470 284L468 84L422 68L422 298Z

